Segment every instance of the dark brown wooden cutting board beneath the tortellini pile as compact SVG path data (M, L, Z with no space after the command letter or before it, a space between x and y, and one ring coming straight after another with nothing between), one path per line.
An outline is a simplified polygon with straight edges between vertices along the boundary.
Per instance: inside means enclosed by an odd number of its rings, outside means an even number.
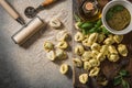
M73 0L74 1L74 13L78 14L78 7L80 4L81 0ZM106 3L110 1L110 0L99 0L99 3L101 7L105 7ZM132 0L130 0L132 1ZM74 20L75 23L75 20ZM75 32L74 32L75 33ZM121 57L119 63L110 63L108 61L105 61L103 63L101 63L101 69L103 72L103 74L106 75L107 78L111 79L117 75L117 72L120 69L120 64L122 62L127 62L128 65L124 67L124 69L129 70L130 75L132 75L132 32L129 34L124 35L123 38L123 44L127 45L128 50L129 50L129 55L128 57ZM75 44L75 43L74 43ZM75 55L74 55L75 57ZM74 82L74 88L122 88L121 86L117 86L113 87L112 82L109 82L107 87L101 87L98 86L97 82L95 82L94 78L90 78L90 82L82 85L79 82L79 75L82 73L87 73L84 69L80 68L76 68L74 67L74 76L73 76L73 82ZM127 78L127 80L130 82L131 87L132 87L132 76L130 76L129 78Z

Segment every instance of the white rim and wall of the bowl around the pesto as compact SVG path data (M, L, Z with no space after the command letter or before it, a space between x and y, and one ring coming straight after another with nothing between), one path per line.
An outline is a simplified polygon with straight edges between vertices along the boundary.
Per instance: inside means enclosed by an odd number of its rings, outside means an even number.
M121 31L117 31L117 30L111 29L106 21L106 13L108 12L108 10L111 7L113 7L116 4L123 6L124 8L127 8L129 10L129 12L131 14L130 24ZM108 2L102 10L102 19L101 20L102 20L102 24L105 25L105 28L113 34L122 35L122 34L127 34L127 33L131 32L132 31L132 3L128 0L112 0L112 1Z

